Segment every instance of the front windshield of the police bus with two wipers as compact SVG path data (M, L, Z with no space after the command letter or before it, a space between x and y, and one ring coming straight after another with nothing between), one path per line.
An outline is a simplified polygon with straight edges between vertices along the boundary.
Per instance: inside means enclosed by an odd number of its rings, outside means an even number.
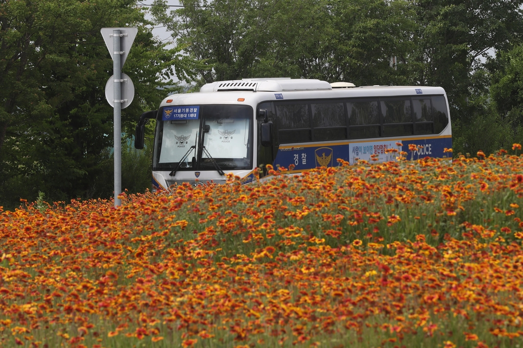
M161 114L154 147L156 170L215 170L216 165L221 170L252 168L252 107L173 106Z

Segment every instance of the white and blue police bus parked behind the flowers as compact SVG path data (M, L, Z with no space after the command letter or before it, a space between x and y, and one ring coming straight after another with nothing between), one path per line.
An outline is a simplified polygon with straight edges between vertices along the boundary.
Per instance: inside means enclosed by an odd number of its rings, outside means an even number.
M362 86L316 79L251 78L214 82L200 92L165 98L137 125L156 120L153 184L245 182L266 166L299 173L337 166L341 158L394 161L397 151L447 157L452 147L449 108L441 87ZM409 157L410 158L410 157ZM258 169L259 168L259 169Z

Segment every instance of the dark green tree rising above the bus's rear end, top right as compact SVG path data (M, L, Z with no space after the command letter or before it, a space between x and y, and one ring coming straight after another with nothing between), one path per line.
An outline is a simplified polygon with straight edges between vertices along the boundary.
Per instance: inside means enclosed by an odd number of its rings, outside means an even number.
M419 0L413 2L417 49L410 56L412 82L444 87L458 117L467 113L473 72L488 52L502 52L523 34L523 1Z

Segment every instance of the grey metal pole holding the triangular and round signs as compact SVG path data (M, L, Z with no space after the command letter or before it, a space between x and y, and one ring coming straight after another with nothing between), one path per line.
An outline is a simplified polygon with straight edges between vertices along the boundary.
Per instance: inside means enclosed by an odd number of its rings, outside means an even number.
M113 84L114 84L114 141L115 141L115 208L122 205L118 195L122 191L122 135L121 135L121 54L120 51L120 30L115 29L112 31L112 69L113 69Z

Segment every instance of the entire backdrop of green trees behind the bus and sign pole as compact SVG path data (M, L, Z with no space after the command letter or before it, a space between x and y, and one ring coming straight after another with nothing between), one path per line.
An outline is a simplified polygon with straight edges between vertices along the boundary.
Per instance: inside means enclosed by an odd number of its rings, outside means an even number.
M174 74L194 91L214 80L287 76L442 86L454 153L523 142L523 0L182 3L168 11L155 0L151 8L173 33L174 49L153 38L135 0L0 3L2 205L35 201L39 191L53 201L111 196L112 108L103 86L112 61L102 27L139 28L123 67L136 90L122 111L125 134L168 92L182 91ZM492 49L496 58L485 64ZM151 150L124 150L131 166L122 170L124 188L146 187Z

